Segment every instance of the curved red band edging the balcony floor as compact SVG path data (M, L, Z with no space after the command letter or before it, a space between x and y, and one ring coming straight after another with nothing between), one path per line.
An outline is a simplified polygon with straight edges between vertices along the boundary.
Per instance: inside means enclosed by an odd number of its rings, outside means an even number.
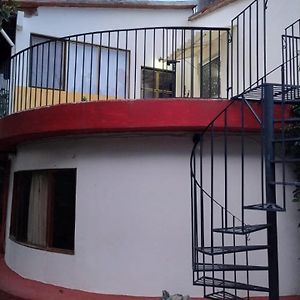
M12 114L0 119L0 150L12 150L18 143L49 136L101 132L191 131L206 127L229 100L176 99L98 101L61 104ZM260 104L253 109L260 115ZM240 128L241 103L228 110L228 126ZM246 107L245 129L256 131L257 120ZM221 130L224 119L215 122Z

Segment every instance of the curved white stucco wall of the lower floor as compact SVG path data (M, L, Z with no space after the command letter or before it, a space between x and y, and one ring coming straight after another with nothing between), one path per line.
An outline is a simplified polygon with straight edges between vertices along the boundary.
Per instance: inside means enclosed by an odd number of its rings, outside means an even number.
M247 178L255 183L259 152L255 140L247 143ZM230 145L230 193L237 203L240 166L234 149L239 146L236 139ZM9 191L8 266L26 278L99 293L158 296L167 289L202 295L201 287L192 286L191 146L190 135L70 137L20 146ZM220 162L218 151L216 155ZM74 255L31 249L8 238L13 172L47 168L77 168ZM253 186L247 199L253 203L257 193ZM216 199L219 195L221 190ZM282 295L300 294L299 213L295 204L287 205L288 211L278 215ZM247 221L264 222L262 215L250 212ZM251 235L249 243L263 243L263 237L263 232ZM251 259L265 263L261 255L251 254ZM265 284L260 272L250 278Z

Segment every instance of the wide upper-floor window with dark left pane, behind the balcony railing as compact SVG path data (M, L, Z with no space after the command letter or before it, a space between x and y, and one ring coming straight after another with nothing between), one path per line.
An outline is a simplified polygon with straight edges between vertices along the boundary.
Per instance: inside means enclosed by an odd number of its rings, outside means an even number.
M40 44L42 43L42 44ZM125 98L129 84L128 50L31 35L32 87Z

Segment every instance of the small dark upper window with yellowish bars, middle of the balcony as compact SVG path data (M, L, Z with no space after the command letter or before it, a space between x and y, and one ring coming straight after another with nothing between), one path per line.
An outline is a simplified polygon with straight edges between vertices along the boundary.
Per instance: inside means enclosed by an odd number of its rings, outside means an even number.
M175 71L142 67L142 98L175 97Z

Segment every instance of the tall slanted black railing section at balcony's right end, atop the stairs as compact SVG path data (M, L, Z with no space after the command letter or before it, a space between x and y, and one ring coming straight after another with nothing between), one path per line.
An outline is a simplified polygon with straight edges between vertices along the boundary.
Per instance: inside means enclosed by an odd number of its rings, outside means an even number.
M264 83L267 74L267 0L254 0L231 21L230 96ZM263 82L261 82L263 79Z

